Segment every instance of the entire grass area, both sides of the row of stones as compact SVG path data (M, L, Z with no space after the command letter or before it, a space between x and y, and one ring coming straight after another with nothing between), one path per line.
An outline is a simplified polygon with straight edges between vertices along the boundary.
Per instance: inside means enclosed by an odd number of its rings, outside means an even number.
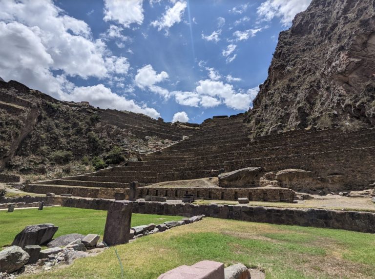
M84 234L93 230L100 233L104 226L102 211L75 208L47 208L44 213L27 211L15 212L19 217L6 216L6 226L2 226L6 214L0 212L0 236L4 232L9 234L8 227L13 225L22 227L26 223L46 221L63 224L66 228L60 234ZM53 219L46 218L47 215ZM178 219L134 214L132 220L134 224L165 221L158 221L159 218ZM111 247L96 257L78 259L65 268L22 278L156 279L179 265L210 259L224 262L226 266L242 262L248 267L260 268L266 272L267 279L370 279L375 278L374 245L373 234L206 218ZM123 272L116 251L124 266Z

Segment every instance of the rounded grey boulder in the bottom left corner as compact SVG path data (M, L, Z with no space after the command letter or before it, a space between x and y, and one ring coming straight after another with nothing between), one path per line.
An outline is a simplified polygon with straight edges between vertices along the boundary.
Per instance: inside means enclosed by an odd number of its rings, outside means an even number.
M24 266L30 256L19 246L10 246L0 251L0 272L11 273Z

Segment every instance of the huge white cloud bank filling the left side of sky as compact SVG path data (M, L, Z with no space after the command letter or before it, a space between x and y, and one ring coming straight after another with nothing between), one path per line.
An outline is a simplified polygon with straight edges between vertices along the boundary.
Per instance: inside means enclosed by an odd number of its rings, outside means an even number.
M115 34L119 30L112 31L107 35L119 37ZM84 88L68 80L105 78L123 88L130 65L125 57L112 55L104 40L93 40L83 20L67 16L52 0L0 1L0 57L5 80L19 80L60 100L88 100L101 107L159 116L102 84Z

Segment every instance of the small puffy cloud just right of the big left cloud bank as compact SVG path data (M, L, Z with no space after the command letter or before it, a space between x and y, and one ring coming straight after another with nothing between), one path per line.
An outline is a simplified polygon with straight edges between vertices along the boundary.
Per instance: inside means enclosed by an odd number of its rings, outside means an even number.
M165 71L159 74L152 68L151 65L146 65L141 69L138 69L137 75L135 76L135 84L141 88L148 88L151 92L162 95L165 99L169 98L169 92L167 89L155 85L156 83L165 81L168 79L168 74Z

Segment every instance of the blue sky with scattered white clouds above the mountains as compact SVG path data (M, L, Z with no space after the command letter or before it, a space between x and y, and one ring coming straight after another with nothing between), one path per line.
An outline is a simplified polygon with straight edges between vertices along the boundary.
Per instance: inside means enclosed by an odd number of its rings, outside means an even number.
M166 121L237 114L310 1L0 0L0 77Z

